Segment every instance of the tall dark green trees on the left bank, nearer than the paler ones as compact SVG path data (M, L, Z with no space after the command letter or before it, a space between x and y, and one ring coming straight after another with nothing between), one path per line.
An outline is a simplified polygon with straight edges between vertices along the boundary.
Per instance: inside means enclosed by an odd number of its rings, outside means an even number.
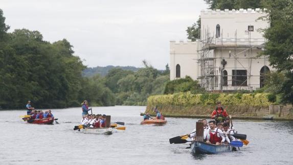
M95 91L93 80L82 78L85 66L66 39L50 43L38 31L8 30L0 10L1 108L24 108L28 100L37 108L80 106ZM102 91L92 100L108 105L111 92L98 87Z

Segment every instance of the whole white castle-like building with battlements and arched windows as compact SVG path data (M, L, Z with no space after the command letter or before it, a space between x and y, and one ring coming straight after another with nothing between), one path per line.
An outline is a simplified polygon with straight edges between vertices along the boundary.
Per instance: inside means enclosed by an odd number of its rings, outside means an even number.
M255 90L272 68L258 56L269 22L261 9L201 11L200 39L170 41L170 80L190 76L209 91Z

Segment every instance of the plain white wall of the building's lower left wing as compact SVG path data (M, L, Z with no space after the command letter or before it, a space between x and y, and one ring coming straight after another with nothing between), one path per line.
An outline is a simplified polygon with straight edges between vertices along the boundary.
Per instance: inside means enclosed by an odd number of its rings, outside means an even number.
M176 65L181 66L181 78L197 78L197 41L170 41L170 80L176 78Z

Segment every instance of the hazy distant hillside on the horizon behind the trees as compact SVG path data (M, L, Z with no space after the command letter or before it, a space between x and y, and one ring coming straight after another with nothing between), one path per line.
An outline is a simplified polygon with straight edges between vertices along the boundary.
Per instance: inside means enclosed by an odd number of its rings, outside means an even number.
M138 71L140 68L139 67L134 67L134 66L97 66L97 67L88 67L82 71L82 76L83 77L92 77L95 76L96 74L100 74L101 76L106 76L107 73L109 72L110 69L112 68L121 68L123 70L132 70L133 72Z

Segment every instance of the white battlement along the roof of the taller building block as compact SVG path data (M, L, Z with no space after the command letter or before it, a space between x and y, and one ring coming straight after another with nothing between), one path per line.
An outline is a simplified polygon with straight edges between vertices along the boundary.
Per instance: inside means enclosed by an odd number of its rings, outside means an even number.
M207 10L201 10L200 12L202 14L259 14L259 13L265 13L266 9L260 9L260 8L256 8L256 9L239 9L239 10L229 10L229 9L224 9L224 10L220 10L220 9L207 9Z

